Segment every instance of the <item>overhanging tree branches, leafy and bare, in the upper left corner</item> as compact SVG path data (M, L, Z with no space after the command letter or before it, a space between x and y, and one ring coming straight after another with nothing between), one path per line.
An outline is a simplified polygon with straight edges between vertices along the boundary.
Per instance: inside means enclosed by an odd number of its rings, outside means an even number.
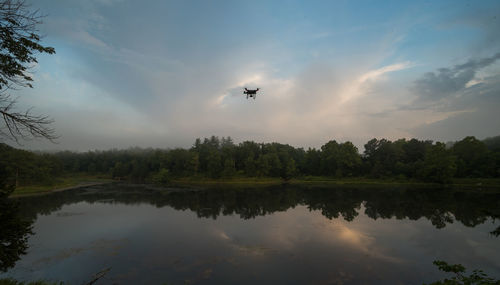
M48 116L16 111L16 98L9 90L33 88L30 70L37 63L35 53L54 54L52 47L40 44L37 25L41 23L38 10L23 0L0 1L0 115L3 126L0 136L18 142L29 137L55 140L53 122Z

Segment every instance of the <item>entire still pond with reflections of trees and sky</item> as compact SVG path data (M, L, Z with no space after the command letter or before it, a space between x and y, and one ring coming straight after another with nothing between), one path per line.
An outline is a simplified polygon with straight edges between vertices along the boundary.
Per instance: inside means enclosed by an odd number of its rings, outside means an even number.
M154 189L18 199L28 248L0 278L97 284L422 284L432 261L500 278L500 194L432 188Z

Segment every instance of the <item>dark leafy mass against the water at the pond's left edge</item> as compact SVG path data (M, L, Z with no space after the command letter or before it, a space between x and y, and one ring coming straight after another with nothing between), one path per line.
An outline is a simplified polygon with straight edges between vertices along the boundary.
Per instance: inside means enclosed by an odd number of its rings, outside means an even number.
M26 253L31 224L20 217L17 203L0 197L0 271L13 267Z

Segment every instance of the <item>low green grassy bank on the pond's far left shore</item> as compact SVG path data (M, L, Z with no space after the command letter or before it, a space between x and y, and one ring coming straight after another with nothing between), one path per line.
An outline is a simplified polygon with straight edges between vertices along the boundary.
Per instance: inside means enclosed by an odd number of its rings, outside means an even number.
M107 183L113 181L106 175L71 174L58 177L50 185L23 185L18 186L10 197L46 194L55 191L63 191L74 187Z

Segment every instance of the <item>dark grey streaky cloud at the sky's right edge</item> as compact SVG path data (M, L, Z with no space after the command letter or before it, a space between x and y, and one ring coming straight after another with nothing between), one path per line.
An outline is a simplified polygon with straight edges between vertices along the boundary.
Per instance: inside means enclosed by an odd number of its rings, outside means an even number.
M436 72L425 73L414 82L412 91L421 101L439 101L463 90L474 79L476 72L493 64L500 58L500 53L478 60L471 59L452 68L440 68Z

